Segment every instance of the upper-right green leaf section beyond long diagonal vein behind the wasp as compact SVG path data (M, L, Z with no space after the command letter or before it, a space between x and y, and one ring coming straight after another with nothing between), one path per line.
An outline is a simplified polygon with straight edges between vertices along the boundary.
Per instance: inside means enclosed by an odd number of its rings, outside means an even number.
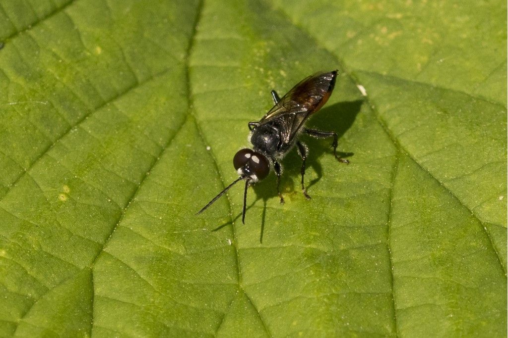
M392 138L482 221L506 272L506 4L274 4L368 89Z

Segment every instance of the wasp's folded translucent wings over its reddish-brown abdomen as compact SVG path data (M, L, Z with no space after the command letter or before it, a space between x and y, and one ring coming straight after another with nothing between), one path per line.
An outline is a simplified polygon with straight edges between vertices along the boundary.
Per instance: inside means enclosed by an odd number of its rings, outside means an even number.
M315 73L293 87L259 121L269 123L277 119L281 125L282 142L290 143L305 121L319 110L330 97L337 70Z

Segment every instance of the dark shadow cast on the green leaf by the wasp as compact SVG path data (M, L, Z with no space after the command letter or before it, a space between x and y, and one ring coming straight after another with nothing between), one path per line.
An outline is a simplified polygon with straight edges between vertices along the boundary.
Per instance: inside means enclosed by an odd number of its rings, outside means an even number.
M320 110L319 117L316 119L311 119L308 122L309 127L316 129L324 129L324 130L333 130L339 136L339 148L347 151L348 149L344 149L340 145L340 138L344 133L351 128L353 123L355 122L356 116L360 112L363 100L356 101L343 101L332 104L328 107L325 107ZM333 156L333 150L330 147L331 140L329 139L315 139L310 136L302 135L300 139L307 144L309 148L307 164L309 167L316 172L317 177L313 180L309 181L306 185L307 188L314 185L318 182L323 176L323 167L321 166L319 159L324 155ZM326 153L326 154L325 154ZM338 155L342 158L351 157L354 153L351 152L337 152ZM354 161L354 160L353 160ZM354 162L352 161L352 165ZM291 151L283 160L284 164L284 173L282 176L282 192L284 194L293 193L295 191L295 180L296 185L298 186L298 194L300 194L300 167L302 164L302 160L300 156L297 154L296 149ZM337 162L337 164L339 164ZM253 185L253 191L256 193L256 200L252 202L249 206L247 206L247 210L256 204L260 199L263 200L263 214L261 219L261 234L260 234L260 242L263 242L263 232L265 228L265 217L266 217L266 202L268 199L274 198L277 196L277 191L273 189L276 184L276 176L269 175L266 179L266 182L263 184ZM312 196L312 194L310 193ZM303 197L302 197L303 198ZM239 213L234 219L238 219L241 216Z

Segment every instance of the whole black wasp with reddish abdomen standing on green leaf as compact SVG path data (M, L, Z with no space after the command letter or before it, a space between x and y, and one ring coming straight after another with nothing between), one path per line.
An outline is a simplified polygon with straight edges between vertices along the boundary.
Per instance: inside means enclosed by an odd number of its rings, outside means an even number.
M208 202L198 214L205 211L220 196L223 196L235 183L244 179L242 222L245 223L247 187L268 176L270 168L273 168L277 175L277 193L280 197L280 203L284 203L284 198L279 190L280 174L282 172L280 160L295 144L298 154L302 158L302 192L305 198L309 200L310 196L303 184L307 146L298 140L301 133L316 138L333 137L332 146L335 158L342 163L349 163L348 160L337 156L338 136L336 132L305 128L307 119L321 109L330 98L336 79L337 70L320 72L300 81L282 98L272 90L275 105L259 122L248 123L252 149L241 149L233 158L233 166L240 176Z

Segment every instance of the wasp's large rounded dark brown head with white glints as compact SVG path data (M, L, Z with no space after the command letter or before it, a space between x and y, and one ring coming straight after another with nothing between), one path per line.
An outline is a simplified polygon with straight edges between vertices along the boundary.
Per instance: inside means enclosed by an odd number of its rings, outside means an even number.
M270 173L270 162L263 154L252 149L240 149L233 158L233 166L240 176L259 181Z

